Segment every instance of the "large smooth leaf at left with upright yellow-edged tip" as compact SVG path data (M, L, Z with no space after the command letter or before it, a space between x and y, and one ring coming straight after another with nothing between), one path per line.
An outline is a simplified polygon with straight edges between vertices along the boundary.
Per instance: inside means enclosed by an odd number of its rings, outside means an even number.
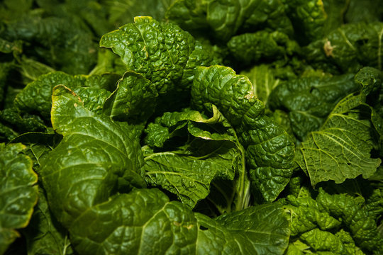
M65 227L107 200L119 181L127 182L123 187L127 189L145 186L140 171L143 157L132 126L89 111L82 98L65 86L53 90L52 126L64 138L45 157L39 173L52 212ZM83 193L85 189L94 192Z

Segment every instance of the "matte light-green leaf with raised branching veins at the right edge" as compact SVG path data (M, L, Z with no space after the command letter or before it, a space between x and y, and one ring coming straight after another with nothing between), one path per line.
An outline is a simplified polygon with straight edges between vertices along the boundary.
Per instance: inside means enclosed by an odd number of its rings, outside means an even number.
M370 154L374 147L370 112L360 107L360 96L343 98L321 129L301 143L296 162L309 174L312 185L328 180L342 183L360 174L367 179L377 170L381 160Z

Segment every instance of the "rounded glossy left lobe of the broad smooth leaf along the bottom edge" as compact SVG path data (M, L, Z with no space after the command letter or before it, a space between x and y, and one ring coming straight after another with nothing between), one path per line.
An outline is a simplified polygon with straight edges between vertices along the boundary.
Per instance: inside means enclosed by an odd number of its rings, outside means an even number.
M194 254L193 212L157 189L138 189L94 205L70 227L79 254Z

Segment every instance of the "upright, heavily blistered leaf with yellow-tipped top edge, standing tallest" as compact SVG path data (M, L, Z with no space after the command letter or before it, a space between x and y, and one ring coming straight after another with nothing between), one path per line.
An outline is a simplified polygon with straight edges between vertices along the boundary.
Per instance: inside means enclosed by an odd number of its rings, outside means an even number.
M187 94L182 92L191 86L195 67L210 65L213 55L173 23L145 16L134 21L104 35L100 45L119 55L128 70L152 81L160 96L166 94L162 100L167 107L175 101L184 103Z

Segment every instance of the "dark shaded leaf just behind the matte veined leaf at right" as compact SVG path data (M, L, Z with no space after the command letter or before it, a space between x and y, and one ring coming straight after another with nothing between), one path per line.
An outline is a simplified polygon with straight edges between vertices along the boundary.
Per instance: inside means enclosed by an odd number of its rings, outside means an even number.
M321 128L340 99L360 89L353 77L343 74L281 82L270 94L270 108L287 111L294 135L304 140L309 132Z

